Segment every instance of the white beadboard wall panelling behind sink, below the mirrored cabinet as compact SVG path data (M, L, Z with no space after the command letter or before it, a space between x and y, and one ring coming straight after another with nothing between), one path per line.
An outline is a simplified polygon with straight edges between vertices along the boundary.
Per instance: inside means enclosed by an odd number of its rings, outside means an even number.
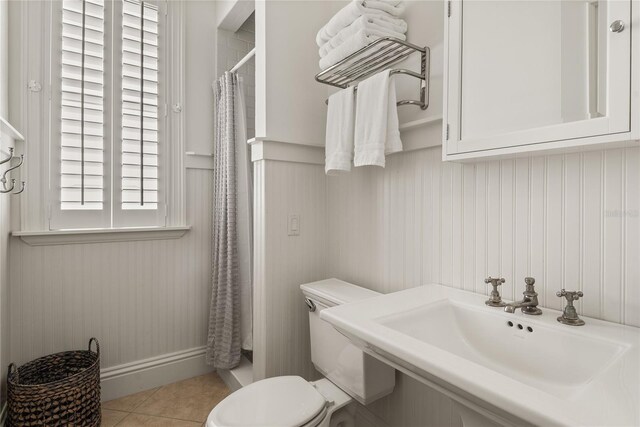
M580 314L640 326L640 148L475 164L441 149L328 178L329 276L388 293L440 283L541 305L582 290Z

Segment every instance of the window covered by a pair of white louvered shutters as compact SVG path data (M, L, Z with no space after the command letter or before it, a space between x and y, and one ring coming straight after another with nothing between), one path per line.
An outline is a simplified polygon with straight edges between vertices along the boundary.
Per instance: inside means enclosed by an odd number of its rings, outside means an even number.
M163 6L52 6L50 229L166 225Z

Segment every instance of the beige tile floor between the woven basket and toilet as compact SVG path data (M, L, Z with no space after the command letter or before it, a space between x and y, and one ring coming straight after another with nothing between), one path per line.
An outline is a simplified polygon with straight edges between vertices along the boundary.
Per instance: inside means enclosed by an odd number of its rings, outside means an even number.
M102 403L103 427L200 427L230 393L215 373Z

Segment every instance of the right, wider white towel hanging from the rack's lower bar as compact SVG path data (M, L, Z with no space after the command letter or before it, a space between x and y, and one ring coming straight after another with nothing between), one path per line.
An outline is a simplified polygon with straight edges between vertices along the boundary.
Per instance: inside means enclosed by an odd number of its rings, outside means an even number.
M384 167L385 154L402 151L396 87L390 70L369 77L358 84L355 123L355 166Z

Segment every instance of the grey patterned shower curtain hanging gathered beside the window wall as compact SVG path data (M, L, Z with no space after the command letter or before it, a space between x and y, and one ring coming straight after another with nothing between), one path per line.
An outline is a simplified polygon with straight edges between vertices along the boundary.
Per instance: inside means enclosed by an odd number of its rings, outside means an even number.
M226 72L214 85L213 288L209 311L207 363L232 369L240 363L240 271L236 108L238 77Z

